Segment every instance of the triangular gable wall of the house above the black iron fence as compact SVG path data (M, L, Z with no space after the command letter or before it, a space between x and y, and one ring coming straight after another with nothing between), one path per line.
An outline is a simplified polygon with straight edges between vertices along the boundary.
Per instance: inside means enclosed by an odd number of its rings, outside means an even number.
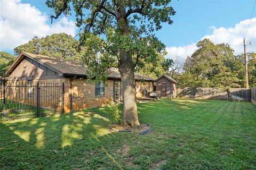
M48 67L25 57L9 76L13 80L39 80L64 78Z

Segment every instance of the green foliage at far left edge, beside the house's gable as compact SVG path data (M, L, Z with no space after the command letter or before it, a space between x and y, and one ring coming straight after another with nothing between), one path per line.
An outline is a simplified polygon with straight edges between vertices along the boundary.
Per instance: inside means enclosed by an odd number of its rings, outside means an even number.
M5 72L14 60L15 57L10 53L0 52L0 77L4 77Z

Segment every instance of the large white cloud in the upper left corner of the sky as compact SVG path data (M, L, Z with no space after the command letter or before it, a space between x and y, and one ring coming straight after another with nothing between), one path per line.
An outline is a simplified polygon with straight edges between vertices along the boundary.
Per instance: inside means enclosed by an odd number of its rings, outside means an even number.
M66 17L47 24L49 17L35 6L20 0L0 0L0 50L13 49L27 43L34 36L43 37L65 32L75 36L76 25Z

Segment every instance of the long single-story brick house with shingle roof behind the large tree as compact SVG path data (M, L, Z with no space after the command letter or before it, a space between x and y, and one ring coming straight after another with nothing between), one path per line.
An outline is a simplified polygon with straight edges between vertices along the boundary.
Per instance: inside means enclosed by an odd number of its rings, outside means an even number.
M105 82L87 82L87 67L77 61L31 53L21 53L7 70L10 80L20 82L64 82L64 111L104 106L110 100L121 99L121 77L117 69L110 69ZM143 80L143 81L141 81ZM154 80L135 73L136 97L154 89Z

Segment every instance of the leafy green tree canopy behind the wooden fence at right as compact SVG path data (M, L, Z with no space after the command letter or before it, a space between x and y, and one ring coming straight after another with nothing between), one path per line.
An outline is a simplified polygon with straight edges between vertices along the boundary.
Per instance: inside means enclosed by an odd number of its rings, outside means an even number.
M177 79L182 87L245 87L244 54L234 55L228 44L214 45L209 39L199 41L198 50L183 66ZM248 53L249 85L256 85L256 54ZM225 80L222 80L222 78Z

